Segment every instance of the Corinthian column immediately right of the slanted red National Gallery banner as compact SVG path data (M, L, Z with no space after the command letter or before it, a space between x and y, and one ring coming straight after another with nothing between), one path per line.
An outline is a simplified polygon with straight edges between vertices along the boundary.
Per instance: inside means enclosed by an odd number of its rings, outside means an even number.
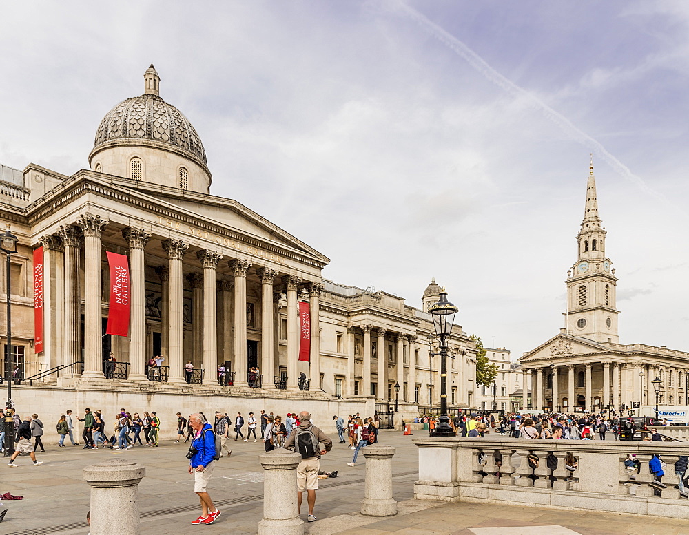
M144 249L150 233L127 227L122 235L130 246L130 375L131 381L146 380L146 277Z

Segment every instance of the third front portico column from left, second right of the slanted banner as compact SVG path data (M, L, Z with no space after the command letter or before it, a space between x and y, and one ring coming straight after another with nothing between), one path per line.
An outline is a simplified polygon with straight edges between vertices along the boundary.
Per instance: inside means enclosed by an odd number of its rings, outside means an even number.
M163 250L169 260L167 271L167 366L169 383L184 382L184 315L182 301L182 258L189 246L180 240L165 240ZM165 328L165 325L163 325Z

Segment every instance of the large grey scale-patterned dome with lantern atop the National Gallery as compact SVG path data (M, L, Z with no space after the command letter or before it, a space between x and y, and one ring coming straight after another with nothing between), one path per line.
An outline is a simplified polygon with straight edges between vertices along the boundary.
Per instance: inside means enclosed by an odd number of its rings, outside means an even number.
M181 151L207 168L206 151L192 123L158 95L160 77L153 65L144 78L143 95L127 98L105 114L96 130L92 154L112 142L147 140Z

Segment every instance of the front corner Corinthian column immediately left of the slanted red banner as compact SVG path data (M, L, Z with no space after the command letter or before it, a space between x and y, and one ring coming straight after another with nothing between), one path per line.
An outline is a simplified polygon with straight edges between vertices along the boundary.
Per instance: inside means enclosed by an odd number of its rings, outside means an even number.
M101 306L101 235L107 221L101 216L80 216L76 224L84 235L84 374L103 378L103 322Z

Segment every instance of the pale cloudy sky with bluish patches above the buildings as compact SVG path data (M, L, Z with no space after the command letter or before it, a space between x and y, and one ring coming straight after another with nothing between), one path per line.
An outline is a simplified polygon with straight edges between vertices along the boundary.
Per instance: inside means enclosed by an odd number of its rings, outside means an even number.
M107 4L107 5L106 5ZM564 324L593 153L620 342L689 350L689 4L32 1L0 6L0 163L73 174L143 93L211 193L513 358Z

